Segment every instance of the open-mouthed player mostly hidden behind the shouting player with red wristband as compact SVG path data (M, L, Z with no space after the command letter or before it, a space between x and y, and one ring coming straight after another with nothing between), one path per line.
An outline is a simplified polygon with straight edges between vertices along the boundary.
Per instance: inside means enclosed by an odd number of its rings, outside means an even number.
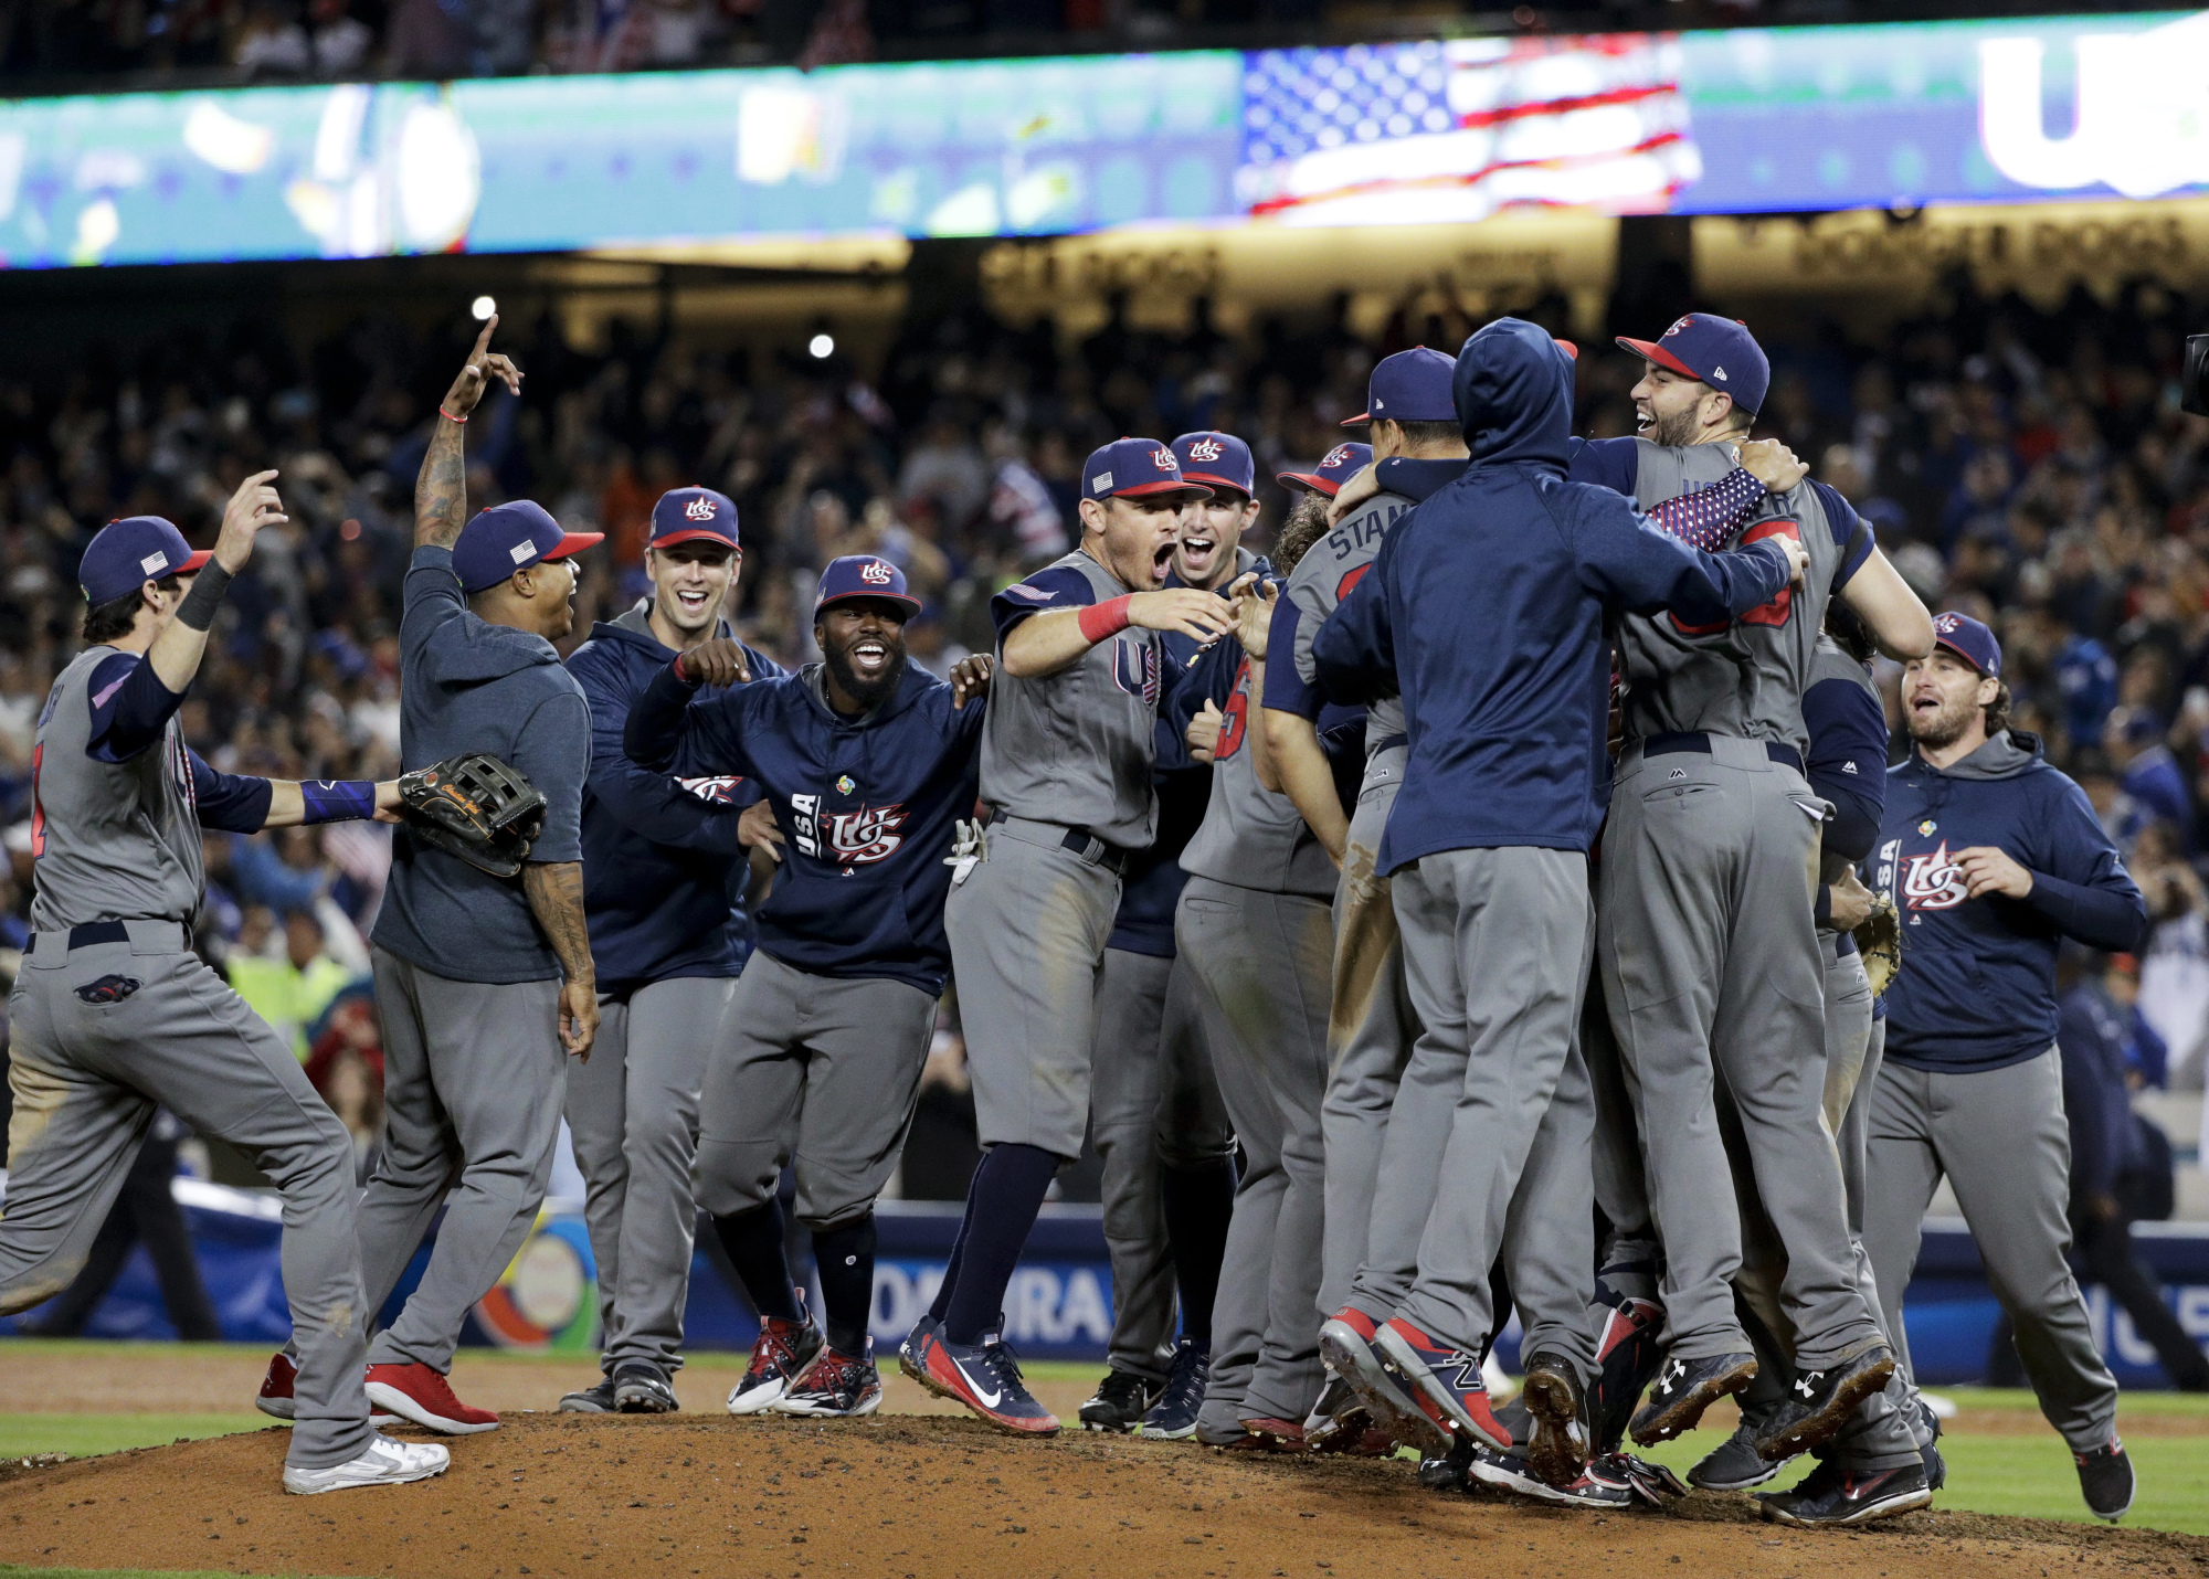
M1213 492L1182 504L1166 585L1224 592L1261 563L1241 548L1257 523L1250 446L1230 433L1184 433L1171 448L1182 477ZM1186 636L1164 640L1180 667L1195 656ZM1164 718L1153 784L1158 837L1120 879L1120 912L1098 976L1089 1135L1104 1162L1113 1332L1109 1369L1082 1402L1080 1422L1091 1431L1140 1424L1144 1435L1184 1440L1197 1429L1213 1369L1213 1299L1235 1210L1235 1128L1173 941L1182 850L1204 822L1213 769ZM1257 1329L1237 1336L1255 1354ZM1237 1363L1250 1354L1237 1352Z

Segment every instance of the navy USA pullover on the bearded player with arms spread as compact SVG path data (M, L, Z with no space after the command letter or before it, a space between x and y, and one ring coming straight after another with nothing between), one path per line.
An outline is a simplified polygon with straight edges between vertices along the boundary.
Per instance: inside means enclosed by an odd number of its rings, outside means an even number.
M755 780L782 824L760 947L815 976L888 976L943 992L952 824L974 815L983 698L915 663L873 713L844 718L822 667L698 696L660 665L630 709L627 751L663 769L705 764Z

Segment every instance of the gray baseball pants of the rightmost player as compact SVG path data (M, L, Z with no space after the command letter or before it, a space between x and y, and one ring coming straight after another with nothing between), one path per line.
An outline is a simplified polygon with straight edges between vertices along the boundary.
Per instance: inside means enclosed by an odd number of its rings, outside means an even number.
M2070 1250L2070 1128L2063 1064L2046 1053L1970 1075L1880 1067L1871 1106L1864 1246L1909 1367L1902 1290L1917 1265L1926 1206L1942 1175L1955 1188L1986 1281L2017 1329L2017 1358L2072 1451L2105 1446L2116 1427L2116 1378L2094 1349Z

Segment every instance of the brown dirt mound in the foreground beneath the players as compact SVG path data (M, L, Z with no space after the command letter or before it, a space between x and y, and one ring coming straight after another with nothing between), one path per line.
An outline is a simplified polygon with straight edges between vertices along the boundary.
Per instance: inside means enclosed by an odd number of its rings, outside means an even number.
M1672 1515L1590 1517L1436 1495L1401 1462L1014 1442L912 1416L517 1416L453 1442L442 1480L311 1499L278 1491L283 1444L258 1431L18 1469L0 1561L393 1579L2209 1572L2209 1539L2189 1535L1957 1513L1803 1533L1701 1493Z

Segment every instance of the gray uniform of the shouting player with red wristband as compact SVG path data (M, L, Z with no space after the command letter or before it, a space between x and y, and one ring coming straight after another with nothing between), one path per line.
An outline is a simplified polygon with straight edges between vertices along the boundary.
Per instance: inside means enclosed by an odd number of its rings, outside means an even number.
M1074 550L998 594L1001 632L1018 614L1122 592ZM1162 638L1135 627L1056 674L1018 678L998 665L992 678L981 797L996 822L943 905L983 1146L1082 1151L1098 972L1127 852L1158 826L1151 766L1171 682Z

